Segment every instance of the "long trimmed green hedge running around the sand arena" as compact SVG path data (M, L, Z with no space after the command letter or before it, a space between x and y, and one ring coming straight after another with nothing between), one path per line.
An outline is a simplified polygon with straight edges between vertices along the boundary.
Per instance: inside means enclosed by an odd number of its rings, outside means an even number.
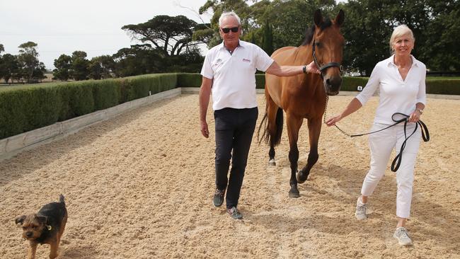
M357 91L366 77L343 77L341 91ZM69 120L176 87L200 87L200 74L147 74L122 79L88 80L0 87L0 139ZM460 95L460 79L427 77L427 93ZM255 74L256 88L265 74Z

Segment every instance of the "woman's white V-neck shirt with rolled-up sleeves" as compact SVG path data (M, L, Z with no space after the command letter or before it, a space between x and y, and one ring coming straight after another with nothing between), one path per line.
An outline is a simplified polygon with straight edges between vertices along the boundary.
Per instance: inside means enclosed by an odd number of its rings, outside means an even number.
M393 124L393 113L410 115L415 110L416 103L426 103L425 93L425 64L413 57L406 80L399 74L394 64L394 55L377 63L372 71L366 87L356 96L360 103L367 103L372 94L379 88L380 100L376 109L374 122ZM401 118L401 117L399 117Z

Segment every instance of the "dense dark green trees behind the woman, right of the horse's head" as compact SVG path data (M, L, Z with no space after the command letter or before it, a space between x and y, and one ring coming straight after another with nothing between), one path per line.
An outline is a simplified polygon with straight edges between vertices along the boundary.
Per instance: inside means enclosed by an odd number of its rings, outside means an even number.
M393 28L406 24L413 30L412 54L428 69L459 71L460 3L456 0L375 1L350 0L340 4L346 21L343 64L369 76L375 64L389 57Z

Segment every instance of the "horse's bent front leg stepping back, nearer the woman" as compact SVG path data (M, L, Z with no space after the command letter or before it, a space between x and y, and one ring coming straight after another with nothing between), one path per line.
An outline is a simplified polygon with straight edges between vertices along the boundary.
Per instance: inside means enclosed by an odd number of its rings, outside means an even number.
M309 141L310 141L310 153L307 163L304 168L297 174L297 182L304 183L306 178L309 177L310 170L318 161L318 140L319 134L321 133L321 118L308 121L309 127Z

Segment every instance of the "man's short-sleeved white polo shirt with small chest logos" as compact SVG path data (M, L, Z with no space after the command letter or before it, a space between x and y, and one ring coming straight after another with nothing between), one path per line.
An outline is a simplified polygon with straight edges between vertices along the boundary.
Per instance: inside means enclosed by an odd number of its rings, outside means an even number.
M201 69L202 76L213 79L212 109L257 107L255 70L265 71L272 62L260 47L243 40L233 54L224 42L212 47Z

